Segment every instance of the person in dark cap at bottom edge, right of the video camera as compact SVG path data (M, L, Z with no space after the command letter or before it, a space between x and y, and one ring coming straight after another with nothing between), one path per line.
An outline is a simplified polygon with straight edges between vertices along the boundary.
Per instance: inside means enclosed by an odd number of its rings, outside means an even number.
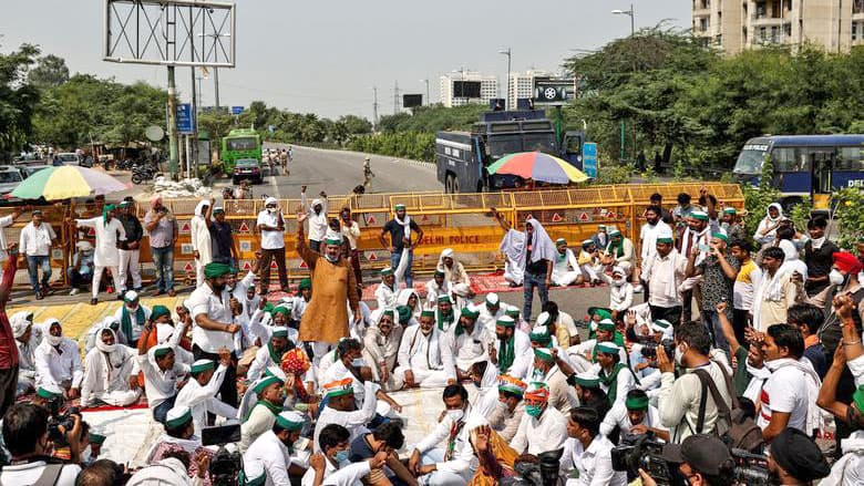
M667 444L662 458L678 466L678 473L690 486L731 486L734 484L734 461L723 441L706 434L690 435L680 445ZM642 486L657 482L639 469Z

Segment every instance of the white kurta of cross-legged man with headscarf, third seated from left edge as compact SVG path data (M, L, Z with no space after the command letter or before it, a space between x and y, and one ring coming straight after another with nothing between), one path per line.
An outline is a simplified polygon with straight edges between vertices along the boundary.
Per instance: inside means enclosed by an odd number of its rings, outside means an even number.
M81 406L93 406L96 400L109 405L126 406L138 400L141 390L132 390L128 385L130 378L138 372L136 353L123 344L117 344L111 353L99 348L90 350L84 358Z

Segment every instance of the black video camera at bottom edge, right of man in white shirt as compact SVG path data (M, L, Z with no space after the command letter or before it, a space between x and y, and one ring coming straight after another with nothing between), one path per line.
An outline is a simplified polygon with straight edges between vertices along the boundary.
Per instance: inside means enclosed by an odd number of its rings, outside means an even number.
M652 433L644 435L624 434L621 445L613 447L613 469L626 471L627 477L639 477L639 469L648 473L658 485L673 484L673 471L662 457L664 443Z

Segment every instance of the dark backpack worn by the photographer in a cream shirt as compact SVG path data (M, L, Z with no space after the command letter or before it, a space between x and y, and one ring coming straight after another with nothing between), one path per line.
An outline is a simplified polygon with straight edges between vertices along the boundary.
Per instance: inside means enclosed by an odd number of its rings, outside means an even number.
M711 375L706 370L696 370L693 373L699 378L702 383L702 397L699 402L699 418L696 425L696 433L702 432L704 426L704 411L708 404L708 391L711 391L711 399L717 406L717 425L714 425L714 434L726 442L731 448L740 448L751 453L761 452L764 445L762 438L762 430L755 424L753 418L744 416L744 412L738 407L738 397L732 391L732 381L722 365L720 372L723 373L726 379L726 387L729 395L732 397L732 409L729 409L723 397L720 395L720 391L717 390Z

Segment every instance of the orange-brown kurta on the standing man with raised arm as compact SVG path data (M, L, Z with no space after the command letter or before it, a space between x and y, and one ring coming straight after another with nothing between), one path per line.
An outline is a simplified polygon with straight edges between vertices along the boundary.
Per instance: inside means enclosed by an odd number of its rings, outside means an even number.
M319 341L336 344L348 338L348 307L358 309L357 280L346 259L331 263L321 254L306 246L300 234L297 252L309 266L312 280L312 298L300 320L300 341Z

